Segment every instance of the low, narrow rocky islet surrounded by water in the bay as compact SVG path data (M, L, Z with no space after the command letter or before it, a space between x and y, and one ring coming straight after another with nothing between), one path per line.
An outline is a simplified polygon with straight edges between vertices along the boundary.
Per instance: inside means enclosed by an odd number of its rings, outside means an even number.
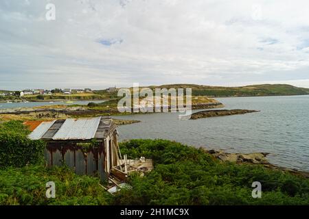
M205 110L192 114L191 119L209 118L215 116L232 116L260 112L258 110Z

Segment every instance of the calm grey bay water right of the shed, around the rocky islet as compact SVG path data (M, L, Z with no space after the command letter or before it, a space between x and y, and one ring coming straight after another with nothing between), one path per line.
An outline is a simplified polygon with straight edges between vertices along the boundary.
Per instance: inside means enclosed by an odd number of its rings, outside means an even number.
M218 101L225 104L225 109L261 112L198 120L178 120L176 113L115 116L141 120L119 127L119 139L163 138L227 152L268 152L273 164L309 170L309 96L233 97Z

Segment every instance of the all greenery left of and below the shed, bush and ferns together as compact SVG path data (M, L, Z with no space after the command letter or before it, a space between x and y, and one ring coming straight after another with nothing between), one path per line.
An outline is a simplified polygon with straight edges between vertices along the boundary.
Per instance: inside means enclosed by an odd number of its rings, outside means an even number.
M111 203L111 195L99 185L100 179L75 175L66 167L45 168L45 143L28 139L29 133L19 121L0 125L0 205ZM56 198L45 196L48 181L56 184Z

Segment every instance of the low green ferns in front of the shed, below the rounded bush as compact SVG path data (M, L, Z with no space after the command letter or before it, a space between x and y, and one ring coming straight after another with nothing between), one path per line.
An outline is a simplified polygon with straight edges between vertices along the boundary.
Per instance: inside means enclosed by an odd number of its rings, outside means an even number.
M45 196L48 181L56 185L56 198ZM65 167L6 168L0 170L0 205L107 205L111 194L99 183Z

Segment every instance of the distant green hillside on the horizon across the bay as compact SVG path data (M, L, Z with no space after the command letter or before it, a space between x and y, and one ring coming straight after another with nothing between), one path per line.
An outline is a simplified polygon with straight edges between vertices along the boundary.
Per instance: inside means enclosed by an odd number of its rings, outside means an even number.
M192 88L194 96L284 96L309 94L309 88L297 88L288 84L260 84L242 87L168 84L152 86L151 88Z

